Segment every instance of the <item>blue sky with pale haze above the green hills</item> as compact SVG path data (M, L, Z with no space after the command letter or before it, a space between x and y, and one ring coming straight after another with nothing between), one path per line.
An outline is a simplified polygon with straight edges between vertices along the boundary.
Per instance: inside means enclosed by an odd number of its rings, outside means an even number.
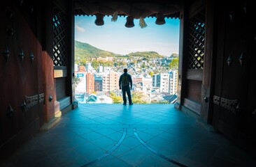
M135 26L125 27L126 17L118 17L116 22L111 16L104 17L104 25L94 24L95 16L75 17L75 40L86 42L94 47L115 54L129 54L136 51L157 51L163 56L178 54L180 20L165 19L166 24L155 24L155 18L146 17L148 25L144 29L134 19Z

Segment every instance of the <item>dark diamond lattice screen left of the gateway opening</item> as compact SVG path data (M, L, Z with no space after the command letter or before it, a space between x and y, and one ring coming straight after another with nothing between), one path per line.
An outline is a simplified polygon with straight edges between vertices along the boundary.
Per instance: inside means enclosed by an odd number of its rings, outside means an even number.
M66 17L62 10L55 6L53 21L53 63L55 66L66 66Z

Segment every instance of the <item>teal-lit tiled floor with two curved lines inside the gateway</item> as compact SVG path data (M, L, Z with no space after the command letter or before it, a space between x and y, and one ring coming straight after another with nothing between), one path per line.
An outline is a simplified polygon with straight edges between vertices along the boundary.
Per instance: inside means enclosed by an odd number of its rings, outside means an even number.
M137 136L136 136L137 134ZM24 143L3 166L256 166L173 104L79 104Z

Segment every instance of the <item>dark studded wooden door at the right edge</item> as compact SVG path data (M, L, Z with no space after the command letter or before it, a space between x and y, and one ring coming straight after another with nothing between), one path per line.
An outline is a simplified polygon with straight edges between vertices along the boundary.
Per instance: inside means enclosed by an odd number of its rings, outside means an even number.
M249 1L248 1L249 2ZM252 1L250 1L252 3ZM255 14L253 4L247 11L241 10L243 3L218 8L218 48L215 69L215 95L238 103L227 109L214 104L213 125L222 134L256 155L255 110ZM235 19L223 17L229 10L236 13ZM239 58L243 53L243 64ZM232 63L228 65L228 58Z

